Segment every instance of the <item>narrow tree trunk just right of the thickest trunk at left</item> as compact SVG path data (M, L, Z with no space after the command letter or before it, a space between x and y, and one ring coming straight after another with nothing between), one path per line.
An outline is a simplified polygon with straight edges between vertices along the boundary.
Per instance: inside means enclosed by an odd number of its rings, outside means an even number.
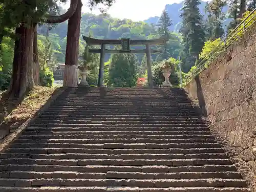
M33 42L33 79L35 86L39 86L39 59L37 47L37 25L34 24L34 42Z

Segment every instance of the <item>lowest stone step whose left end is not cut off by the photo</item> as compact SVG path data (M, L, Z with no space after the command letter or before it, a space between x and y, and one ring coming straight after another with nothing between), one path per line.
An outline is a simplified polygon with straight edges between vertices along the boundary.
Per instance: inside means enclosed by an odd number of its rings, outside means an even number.
M6 153L29 154L216 154L224 153L222 148L141 148L141 149L95 149L95 148L8 148Z

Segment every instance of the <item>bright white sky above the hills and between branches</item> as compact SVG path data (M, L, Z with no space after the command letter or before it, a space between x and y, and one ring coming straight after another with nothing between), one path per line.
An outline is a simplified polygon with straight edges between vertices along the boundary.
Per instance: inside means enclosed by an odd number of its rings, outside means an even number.
M99 14L99 7L90 11L87 0L82 0L82 12ZM107 11L114 18L128 18L134 21L145 20L148 17L160 16L166 4L180 3L182 0L116 0L116 3ZM64 7L68 9L68 2Z

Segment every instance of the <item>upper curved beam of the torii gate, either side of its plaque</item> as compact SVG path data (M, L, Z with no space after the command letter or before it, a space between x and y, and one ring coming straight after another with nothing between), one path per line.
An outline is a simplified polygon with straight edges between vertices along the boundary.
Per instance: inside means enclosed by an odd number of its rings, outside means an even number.
M82 36L83 40L88 45L122 45L121 39L96 39L87 36ZM159 39L146 39L146 40L130 40L130 45L163 45L166 40L164 38Z

